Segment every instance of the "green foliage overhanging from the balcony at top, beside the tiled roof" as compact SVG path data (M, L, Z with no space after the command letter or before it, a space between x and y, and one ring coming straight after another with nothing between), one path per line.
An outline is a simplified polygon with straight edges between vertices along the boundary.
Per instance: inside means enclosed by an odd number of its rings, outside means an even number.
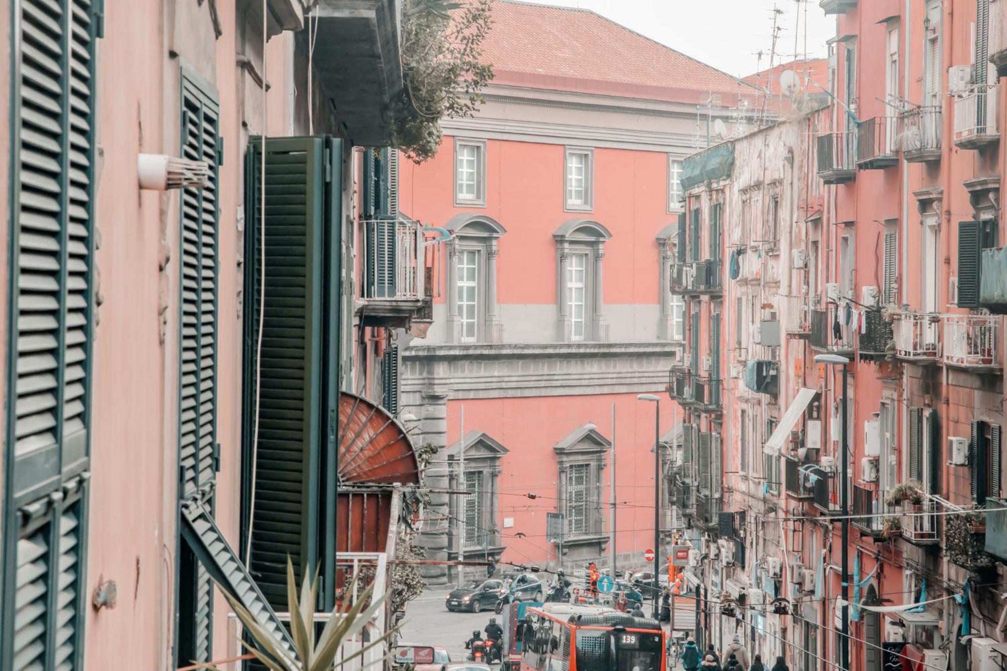
M437 153L443 117L471 117L492 79L481 62L489 31L490 0L405 0L402 69L405 86L395 102L395 145L414 162Z

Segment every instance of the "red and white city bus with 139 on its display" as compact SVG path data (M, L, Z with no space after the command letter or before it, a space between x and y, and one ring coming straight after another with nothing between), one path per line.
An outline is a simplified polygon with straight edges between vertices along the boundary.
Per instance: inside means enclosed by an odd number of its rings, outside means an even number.
M546 603L521 624L521 671L664 671L665 633L648 618Z

